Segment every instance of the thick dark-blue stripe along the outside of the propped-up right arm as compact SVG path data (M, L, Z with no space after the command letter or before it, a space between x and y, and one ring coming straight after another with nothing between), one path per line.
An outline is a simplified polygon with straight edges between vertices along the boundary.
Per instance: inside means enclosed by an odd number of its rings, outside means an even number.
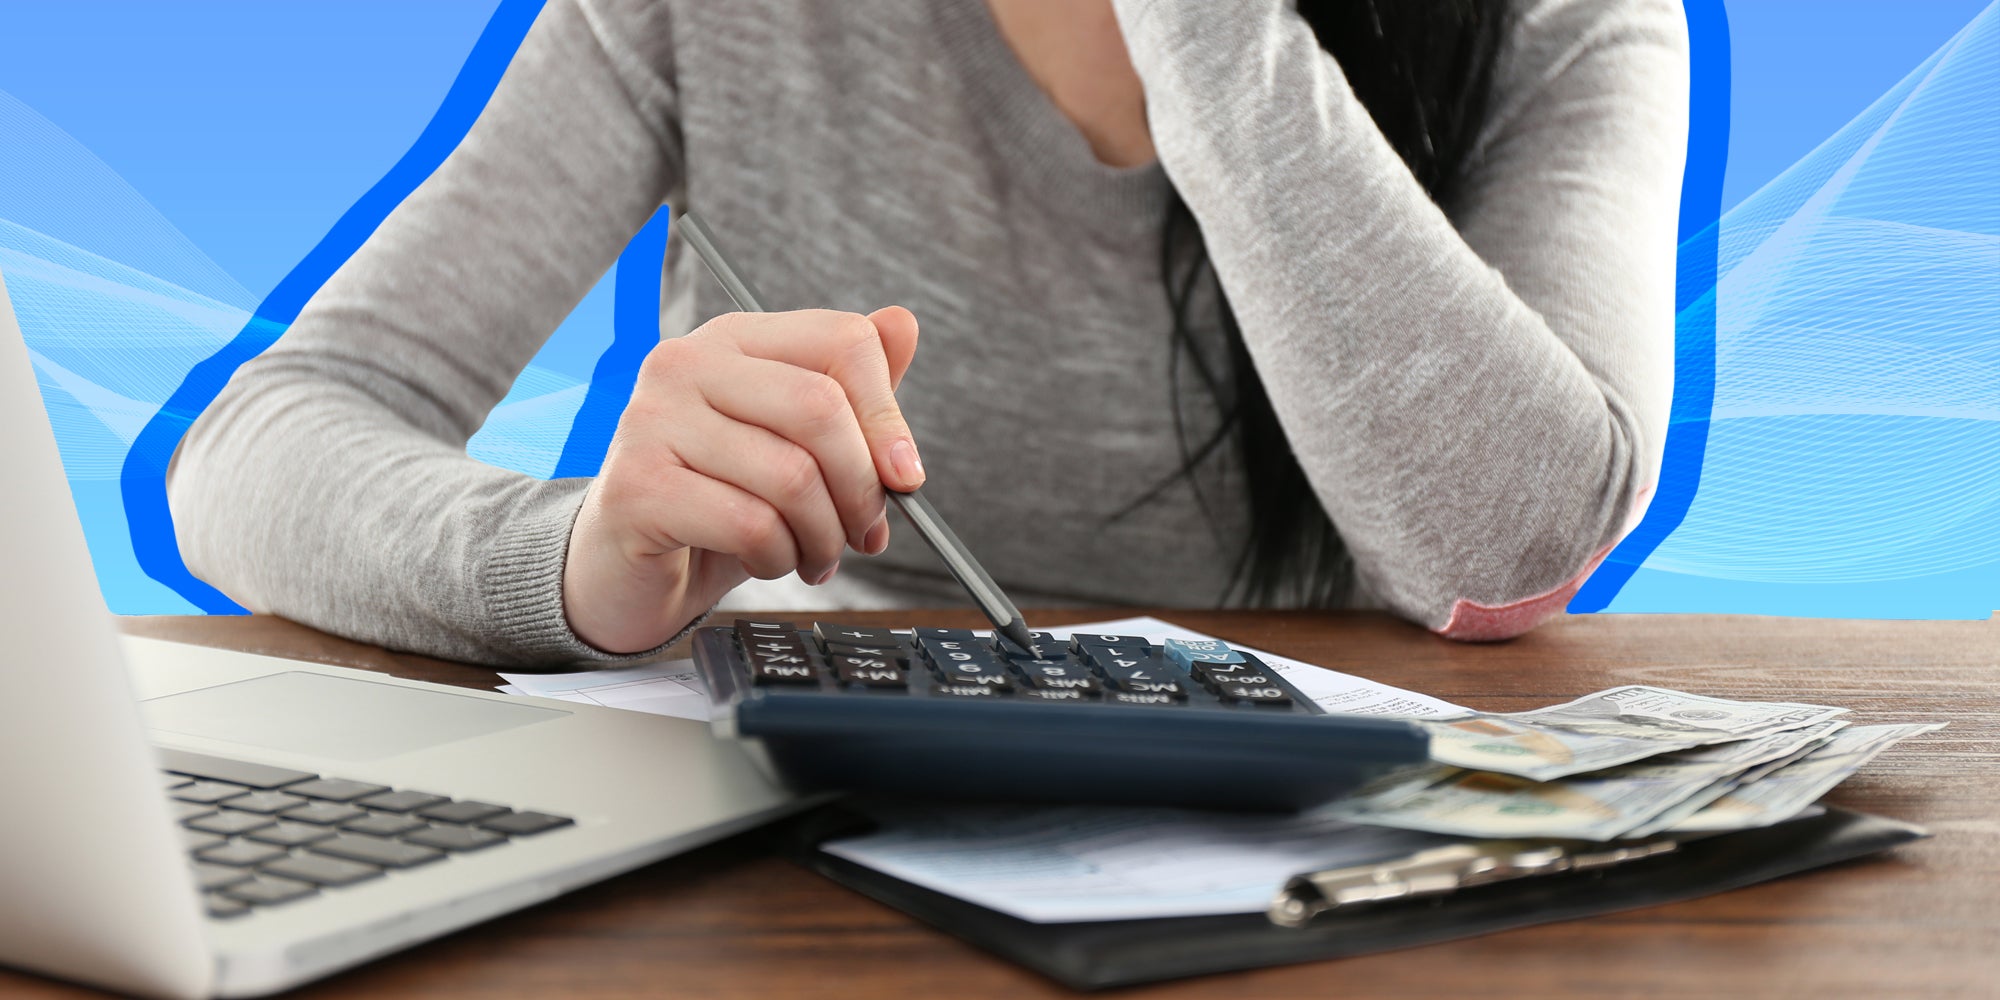
M1570 614L1600 612L1654 548L1688 516L1702 484L1708 420L1716 404L1716 252L1722 172L1730 158L1730 18L1722 0L1686 0L1688 166L1680 180L1680 252L1674 280L1674 406L1660 462L1660 492L1632 534L1570 598Z

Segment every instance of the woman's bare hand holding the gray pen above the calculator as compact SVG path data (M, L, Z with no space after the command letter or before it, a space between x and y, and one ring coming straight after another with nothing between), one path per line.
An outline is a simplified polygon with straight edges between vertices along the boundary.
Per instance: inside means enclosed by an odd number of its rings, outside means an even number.
M750 576L882 552L882 486L924 482L894 396L914 354L902 306L732 312L654 348L570 530L570 628L650 650Z

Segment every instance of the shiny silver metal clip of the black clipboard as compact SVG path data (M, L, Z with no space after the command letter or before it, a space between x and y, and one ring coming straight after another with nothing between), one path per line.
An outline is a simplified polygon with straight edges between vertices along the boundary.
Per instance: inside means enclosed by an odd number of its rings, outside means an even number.
M1314 916L1418 896L1444 896L1468 886L1586 872L1680 850L1676 840L1594 844L1584 840L1480 840L1420 850L1404 858L1292 876L1270 900L1266 916L1282 928L1304 928Z

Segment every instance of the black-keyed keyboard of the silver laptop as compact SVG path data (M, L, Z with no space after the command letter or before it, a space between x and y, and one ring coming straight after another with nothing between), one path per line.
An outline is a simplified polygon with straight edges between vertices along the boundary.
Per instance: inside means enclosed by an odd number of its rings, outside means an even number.
M310 898L574 820L158 748L208 916Z

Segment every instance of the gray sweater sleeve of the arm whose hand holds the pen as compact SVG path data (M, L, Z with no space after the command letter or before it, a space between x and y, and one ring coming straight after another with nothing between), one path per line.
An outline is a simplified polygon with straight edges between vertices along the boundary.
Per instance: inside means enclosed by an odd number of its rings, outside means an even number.
M392 648L610 658L562 612L588 480L464 446L680 176L662 10L552 0L456 152L194 422L168 496L196 574Z

